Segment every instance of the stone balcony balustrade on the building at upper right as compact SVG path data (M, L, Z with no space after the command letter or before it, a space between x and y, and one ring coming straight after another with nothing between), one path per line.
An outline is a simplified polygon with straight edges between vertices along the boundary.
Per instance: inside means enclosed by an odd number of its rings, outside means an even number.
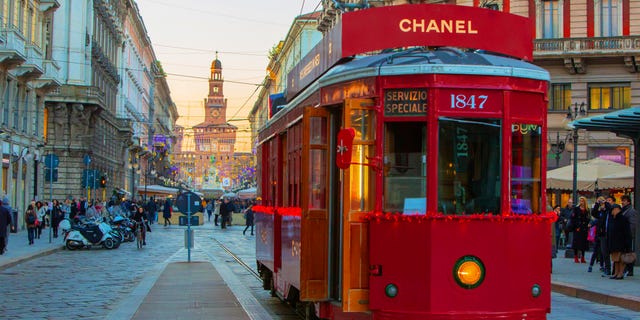
M627 56L640 54L640 36L534 40L533 56Z

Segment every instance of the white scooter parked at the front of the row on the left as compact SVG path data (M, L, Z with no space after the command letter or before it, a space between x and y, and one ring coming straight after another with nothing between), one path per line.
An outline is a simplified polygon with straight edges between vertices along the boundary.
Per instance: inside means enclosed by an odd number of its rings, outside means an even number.
M110 232L111 227L105 223L87 224L84 226L72 225L67 219L59 224L64 233L65 247L69 250L103 246L105 249L115 249L120 241Z

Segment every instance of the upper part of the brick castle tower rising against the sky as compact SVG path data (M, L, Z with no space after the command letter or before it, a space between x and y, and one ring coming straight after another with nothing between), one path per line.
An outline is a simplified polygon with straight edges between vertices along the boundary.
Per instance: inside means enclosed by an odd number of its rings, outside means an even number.
M211 75L209 76L209 95L204 101L205 118L204 122L213 124L223 124L227 122L227 99L222 92L222 63L216 59L211 63Z

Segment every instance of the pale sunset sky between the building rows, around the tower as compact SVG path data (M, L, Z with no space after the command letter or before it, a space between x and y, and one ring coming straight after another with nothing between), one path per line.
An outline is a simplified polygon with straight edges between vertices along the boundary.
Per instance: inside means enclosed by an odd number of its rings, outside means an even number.
M204 120L203 100L218 51L227 121L238 127L236 151L251 151L246 118L266 75L268 52L284 40L295 17L321 9L320 2L136 0L178 107L177 124L190 127Z

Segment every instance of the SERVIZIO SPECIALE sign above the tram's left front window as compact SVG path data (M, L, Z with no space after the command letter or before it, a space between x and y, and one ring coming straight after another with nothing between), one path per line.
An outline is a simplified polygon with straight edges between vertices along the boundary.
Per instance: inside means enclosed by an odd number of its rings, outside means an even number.
M427 89L389 89L384 92L384 115L426 116Z

